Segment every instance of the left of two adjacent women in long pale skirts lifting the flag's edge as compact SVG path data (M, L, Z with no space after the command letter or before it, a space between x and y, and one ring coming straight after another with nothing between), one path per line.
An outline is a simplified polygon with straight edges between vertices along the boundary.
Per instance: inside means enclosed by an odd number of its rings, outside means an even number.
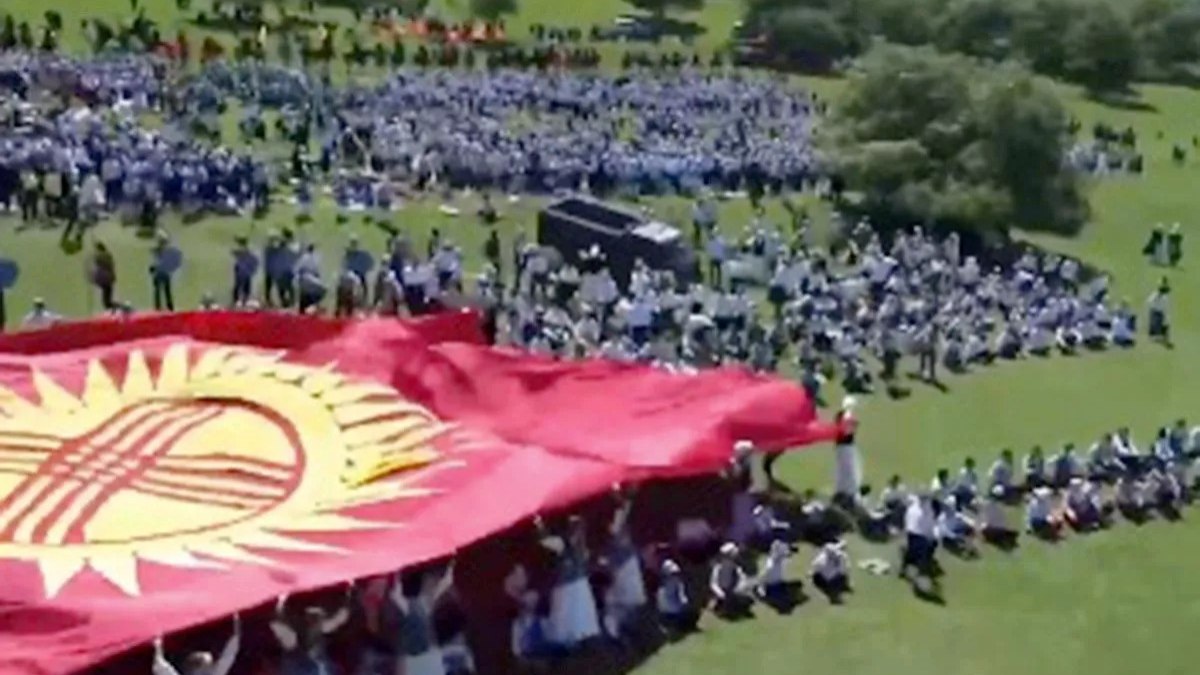
M542 532L541 544L558 557L558 580L550 597L551 638L568 649L600 635L600 613L595 593L588 579L588 550L583 519L572 515L568 522L568 536L545 536L541 519L536 520Z

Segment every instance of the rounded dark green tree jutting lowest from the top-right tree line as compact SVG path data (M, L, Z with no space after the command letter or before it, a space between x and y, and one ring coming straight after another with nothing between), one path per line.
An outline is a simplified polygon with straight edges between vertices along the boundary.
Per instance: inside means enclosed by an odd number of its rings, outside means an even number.
M1122 92L1138 74L1129 17L1109 2L1085 2L1067 30L1067 73L1093 94Z

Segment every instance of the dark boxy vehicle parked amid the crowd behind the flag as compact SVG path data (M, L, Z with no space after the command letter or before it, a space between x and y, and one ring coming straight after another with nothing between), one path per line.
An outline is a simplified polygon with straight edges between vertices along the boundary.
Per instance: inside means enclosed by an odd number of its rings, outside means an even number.
M622 288L629 285L638 258L652 269L674 273L680 282L697 277L696 253L677 228L589 197L569 197L542 209L538 214L538 243L576 265L588 249L599 246Z

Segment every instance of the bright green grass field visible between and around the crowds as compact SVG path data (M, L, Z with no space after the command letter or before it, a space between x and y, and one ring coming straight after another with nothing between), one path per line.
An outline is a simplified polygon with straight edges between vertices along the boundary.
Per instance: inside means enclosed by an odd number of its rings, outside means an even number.
M524 11L510 25L514 36L535 20L588 25L610 20L624 11L617 0L575 2L569 12L558 0L521 0ZM451 11L463 0L444 0ZM119 16L125 0L79 5L54 0L10 0L4 10L29 16L54 5L67 16ZM86 7L86 10L83 10ZM72 10L68 12L68 10ZM156 0L151 13L173 17L173 4ZM736 18L732 0L710 0L696 17L708 30L703 44L720 43ZM68 19L68 24L73 24ZM816 83L835 92L836 83ZM1141 442L1154 426L1176 417L1200 418L1200 273L1194 240L1200 235L1194 214L1200 210L1195 186L1198 165L1174 166L1172 142L1200 133L1193 112L1200 92L1172 88L1145 88L1144 110L1105 108L1062 89L1064 98L1088 129L1103 120L1133 125L1142 139L1148 163L1140 179L1117 178L1092 190L1094 222L1075 239L1037 238L1050 249L1081 256L1108 270L1118 294L1139 307L1162 275L1138 255L1150 225L1180 221L1184 228L1183 267L1172 274L1177 289L1172 307L1176 347L1171 351L1142 345L1122 353L1054 358L1006 364L947 381L938 392L914 384L904 401L865 400L860 411L860 444L869 478L882 482L900 472L910 484L924 484L938 466L955 467L971 454L986 466L1002 447L1024 453L1040 443L1090 442L1102 431L1129 424ZM1158 138L1159 132L1162 138ZM463 199L470 213L470 199ZM504 205L503 233L533 223L536 204ZM682 219L682 202L654 204L660 215ZM778 209L778 204L774 205ZM722 222L739 228L748 215L744 204L731 204ZM269 221L205 221L169 226L188 259L179 293L181 304L194 305L210 289L221 297L228 283L228 245L236 233L259 237L264 229L290 222L282 210ZM473 217L437 215L436 203L413 204L395 217L396 225L422 240L437 226L468 251L478 252L481 228ZM67 313L89 309L80 256L67 256L53 232L17 232L16 222L0 221L0 251L23 264L20 288L10 299L10 313L24 311L34 294ZM331 214L319 213L304 235L318 241L325 263L336 264L341 244L352 231L378 245L382 234L356 225L332 225ZM96 237L118 250L120 294L146 306L148 245L132 231L106 225ZM1190 250L1189 250L1190 247ZM478 253L476 253L478 262ZM828 486L832 454L818 447L780 462L782 476L796 486ZM1188 518L1196 518L1193 513ZM890 557L892 550L872 550L852 542L854 555ZM1195 623L1200 620L1200 583L1187 569L1200 556L1200 527L1151 522L1142 527L1120 524L1092 537L1070 537L1057 545L1026 542L1013 554L985 551L979 561L946 561L944 607L917 601L907 585L893 578L856 579L857 592L845 607L829 608L812 599L791 616L761 610L754 621L721 623L706 620L704 631L684 644L665 649L637 673L644 675L898 675L932 671L972 675L1128 675L1130 673L1183 673ZM802 572L806 560L798 560Z

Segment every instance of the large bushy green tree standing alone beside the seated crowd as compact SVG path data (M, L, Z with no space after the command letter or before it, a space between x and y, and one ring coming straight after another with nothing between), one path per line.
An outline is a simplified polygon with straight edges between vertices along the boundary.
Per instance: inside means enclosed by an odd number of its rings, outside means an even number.
M823 156L877 222L1002 238L1084 223L1068 142L1062 104L1024 68L884 44L851 72Z

